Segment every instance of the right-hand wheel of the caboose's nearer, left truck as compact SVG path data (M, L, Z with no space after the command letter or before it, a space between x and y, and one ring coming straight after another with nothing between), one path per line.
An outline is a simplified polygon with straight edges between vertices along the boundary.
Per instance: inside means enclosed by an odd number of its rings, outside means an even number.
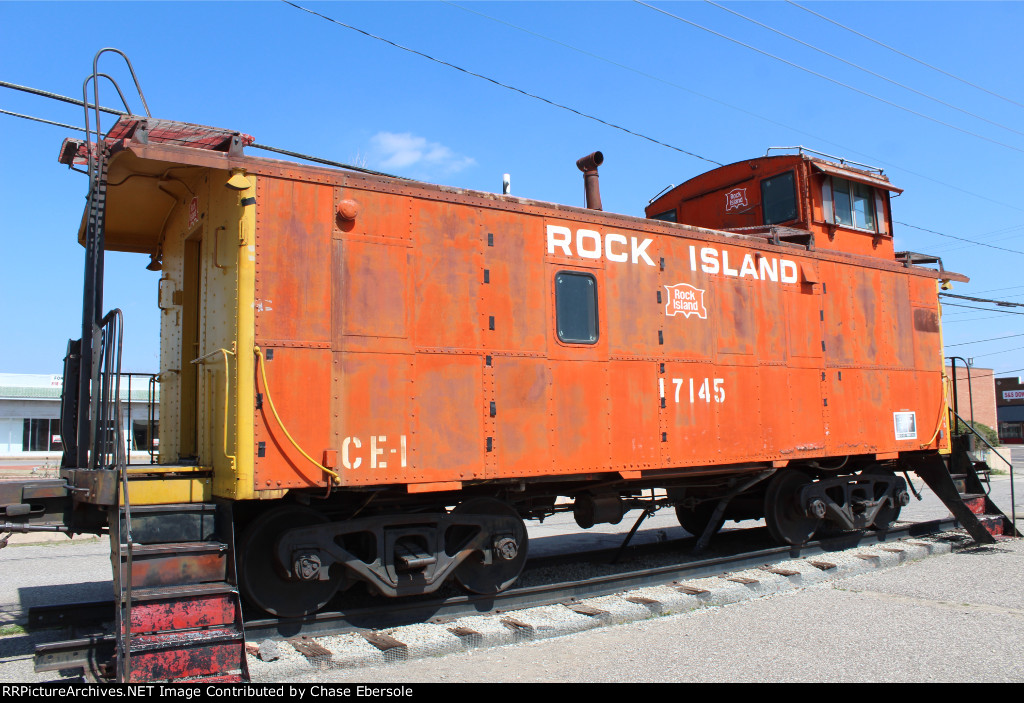
M490 564L484 564L482 556L474 554L455 570L455 580L471 594L500 594L512 585L526 564L528 545L526 525L519 514L508 503L496 498L469 498L456 506L453 514L515 518L515 527L510 534L499 533L488 538L494 547Z

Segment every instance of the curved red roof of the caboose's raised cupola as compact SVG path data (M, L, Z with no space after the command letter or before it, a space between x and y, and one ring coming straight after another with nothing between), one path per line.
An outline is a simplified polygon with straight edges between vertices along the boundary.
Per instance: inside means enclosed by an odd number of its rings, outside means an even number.
M658 195L647 206L646 212L648 215L655 215L678 206L682 201L699 197L700 195L732 187L733 185L739 185L759 176L775 175L804 163L809 164L811 169L819 173L839 176L896 193L903 192L901 188L897 188L890 183L889 178L881 170L858 169L843 160L811 157L801 150L798 153L780 153L746 159L706 171Z

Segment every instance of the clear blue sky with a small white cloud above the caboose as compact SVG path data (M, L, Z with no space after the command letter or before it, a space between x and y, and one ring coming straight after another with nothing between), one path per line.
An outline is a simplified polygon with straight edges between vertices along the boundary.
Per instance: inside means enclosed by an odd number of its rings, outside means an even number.
M706 2L650 4L807 71L634 2L298 4L705 159L803 144L883 167L905 190L895 220L1001 248L897 224L897 250L940 255L972 278L953 293L1024 302L1024 3L800 3L997 95L793 4L722 3L952 107ZM713 167L283 2L0 2L2 81L80 97L104 46L131 58L155 117L413 178L500 191L510 173L514 194L582 206L574 162L600 149L604 208L642 215L665 186ZM108 54L101 69L138 109L123 65ZM115 104L106 85L101 95ZM83 121L79 107L6 88L0 108ZM0 126L0 370L59 372L81 324L86 182L56 163L76 135L6 115ZM157 369L159 274L146 262L108 259L125 370ZM949 353L1024 369L1024 315L947 306L944 322Z

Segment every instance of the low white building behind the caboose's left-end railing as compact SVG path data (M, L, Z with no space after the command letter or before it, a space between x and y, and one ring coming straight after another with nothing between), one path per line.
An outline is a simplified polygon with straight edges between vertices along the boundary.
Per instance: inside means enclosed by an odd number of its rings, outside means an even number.
M148 374L121 377L122 432L133 462L147 462L159 447L160 387L150 379ZM0 374L0 458L60 457L62 387L60 376Z

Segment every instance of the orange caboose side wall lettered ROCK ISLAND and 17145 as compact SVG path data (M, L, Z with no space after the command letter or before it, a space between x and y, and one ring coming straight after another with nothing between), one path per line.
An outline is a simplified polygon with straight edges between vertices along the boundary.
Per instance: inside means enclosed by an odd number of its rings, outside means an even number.
M285 425L317 460L333 452L343 485L916 449L934 430L934 278L412 185L260 184L257 344ZM567 256L549 225L622 239ZM650 265L633 254L648 238ZM558 339L566 270L596 281L595 344ZM668 314L683 283L702 315ZM903 409L916 440L894 438ZM255 434L257 489L324 485L265 403Z

